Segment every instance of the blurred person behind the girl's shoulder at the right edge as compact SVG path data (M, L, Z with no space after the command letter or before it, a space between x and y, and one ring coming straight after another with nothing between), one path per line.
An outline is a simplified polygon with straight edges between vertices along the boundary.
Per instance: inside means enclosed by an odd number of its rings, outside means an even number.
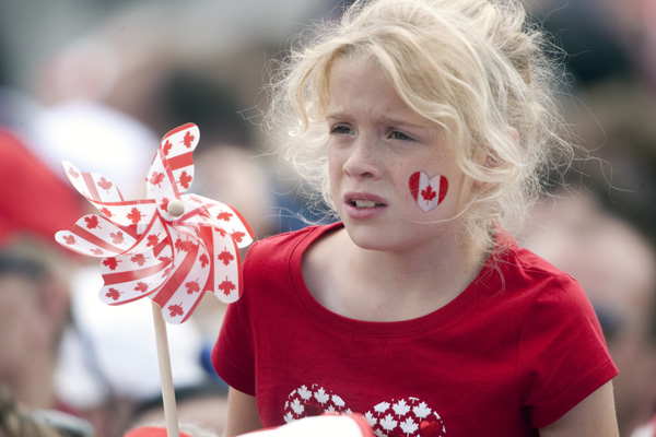
M585 191L536 210L526 247L577 280L595 308L620 374L621 436L656 414L656 252L636 228Z

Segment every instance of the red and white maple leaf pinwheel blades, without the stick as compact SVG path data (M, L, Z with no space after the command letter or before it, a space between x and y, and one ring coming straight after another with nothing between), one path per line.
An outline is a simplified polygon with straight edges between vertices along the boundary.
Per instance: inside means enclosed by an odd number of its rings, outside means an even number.
M103 258L102 302L121 305L150 297L169 323L181 323L203 293L225 303L242 294L239 248L253 231L235 209L184 194L194 179L199 131L188 123L162 140L148 172L147 198L125 200L106 177L62 163L67 177L102 215L80 218L56 235L73 251Z

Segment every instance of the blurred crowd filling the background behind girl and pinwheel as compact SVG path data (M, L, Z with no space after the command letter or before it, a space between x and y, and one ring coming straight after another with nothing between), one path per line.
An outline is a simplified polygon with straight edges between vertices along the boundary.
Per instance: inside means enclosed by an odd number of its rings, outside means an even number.
M258 108L270 63L342 4L0 0L0 428L12 408L79 436L163 421L150 303L105 307L97 262L55 244L91 211L60 163L139 197L161 137L195 122L191 192L237 208L257 238L303 226L298 215L312 214L269 155ZM519 243L590 297L631 436L656 414L656 1L526 5L566 52L554 51L569 84L561 105L588 156L531 212ZM168 327L180 420L216 433L226 388L208 353L223 310L206 296L190 321Z

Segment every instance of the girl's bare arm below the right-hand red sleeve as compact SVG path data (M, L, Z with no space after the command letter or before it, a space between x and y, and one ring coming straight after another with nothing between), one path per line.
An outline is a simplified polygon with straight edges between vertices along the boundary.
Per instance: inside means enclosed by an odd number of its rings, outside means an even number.
M540 428L540 437L618 437L612 382L585 398L561 418Z

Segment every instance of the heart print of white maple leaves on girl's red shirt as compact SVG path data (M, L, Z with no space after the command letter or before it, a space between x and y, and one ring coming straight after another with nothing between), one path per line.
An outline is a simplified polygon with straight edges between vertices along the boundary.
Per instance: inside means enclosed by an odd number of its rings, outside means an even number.
M292 391L284 404L284 412L286 423L324 413L352 413L340 395L316 383ZM377 437L446 436L440 414L418 398L379 402L364 416Z

